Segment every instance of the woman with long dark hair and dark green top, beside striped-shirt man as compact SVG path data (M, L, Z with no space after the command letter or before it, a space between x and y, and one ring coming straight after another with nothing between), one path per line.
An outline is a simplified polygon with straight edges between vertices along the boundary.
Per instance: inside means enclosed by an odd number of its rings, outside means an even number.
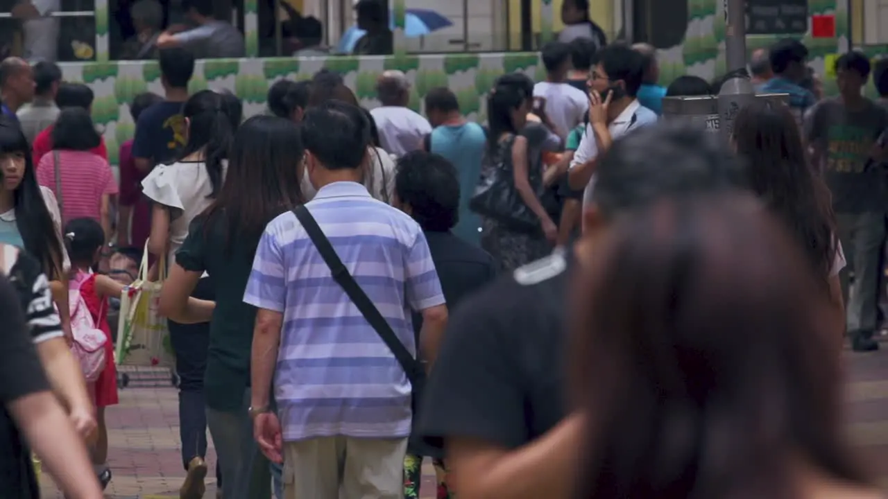
M243 303L243 292L266 224L303 202L297 176L303 154L295 123L263 115L243 123L234 136L226 184L210 208L194 218L163 286L162 312L182 321L195 315L186 297L202 273L212 278L217 306L204 390L226 499L271 494L267 473L263 480L251 480L268 464L253 439L248 410L256 308Z

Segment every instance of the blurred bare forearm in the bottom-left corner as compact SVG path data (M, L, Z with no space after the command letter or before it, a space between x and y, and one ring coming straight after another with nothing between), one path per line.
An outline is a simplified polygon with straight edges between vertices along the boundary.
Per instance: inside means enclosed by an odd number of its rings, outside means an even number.
M83 440L50 393L28 395L13 402L11 409L31 448L66 497L102 497Z

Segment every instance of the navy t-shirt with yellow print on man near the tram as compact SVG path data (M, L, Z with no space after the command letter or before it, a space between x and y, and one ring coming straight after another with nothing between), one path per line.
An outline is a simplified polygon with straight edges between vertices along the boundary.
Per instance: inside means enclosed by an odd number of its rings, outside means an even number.
M179 148L185 146L185 137L182 103L158 102L139 115L136 137L132 139L132 157L145 158L154 164L173 161Z

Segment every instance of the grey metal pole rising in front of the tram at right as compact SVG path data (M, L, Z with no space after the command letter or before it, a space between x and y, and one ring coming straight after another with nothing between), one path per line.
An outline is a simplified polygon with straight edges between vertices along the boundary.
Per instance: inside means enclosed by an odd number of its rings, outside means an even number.
M742 107L755 101L756 91L746 72L746 12L743 0L723 0L725 7L725 62L731 77L718 92L718 129L731 139L733 120ZM741 71L742 70L742 71Z

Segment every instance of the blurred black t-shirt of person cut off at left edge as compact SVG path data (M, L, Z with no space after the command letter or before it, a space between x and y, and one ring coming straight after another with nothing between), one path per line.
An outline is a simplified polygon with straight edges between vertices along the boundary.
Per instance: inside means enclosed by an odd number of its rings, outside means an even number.
M31 453L6 408L12 402L50 389L40 364L19 297L6 277L0 274L0 317L4 328L0 345L0 496L37 498Z

